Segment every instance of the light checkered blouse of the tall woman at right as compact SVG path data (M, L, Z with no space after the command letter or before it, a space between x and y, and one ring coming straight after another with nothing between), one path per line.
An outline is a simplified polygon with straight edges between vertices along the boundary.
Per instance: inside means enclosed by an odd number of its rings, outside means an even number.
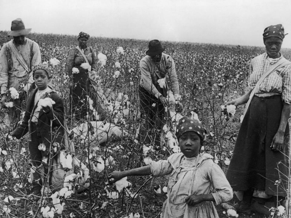
M261 54L251 60L249 65L249 88L253 89L261 76L268 68L279 61L279 58L269 58L267 53ZM282 101L291 102L291 64L269 74L260 84L256 95L259 97L282 94Z

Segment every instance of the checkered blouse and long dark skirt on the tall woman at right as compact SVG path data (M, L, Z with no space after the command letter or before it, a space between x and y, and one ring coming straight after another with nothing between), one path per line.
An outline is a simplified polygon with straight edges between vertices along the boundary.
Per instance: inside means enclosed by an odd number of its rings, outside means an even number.
M249 87L254 88L270 65L267 54L253 58L249 68ZM256 197L286 196L288 188L289 124L286 125L283 150L270 148L281 121L283 102L291 101L291 65L271 73L259 86L239 129L226 178L234 190L255 188ZM280 181L277 186L276 180ZM278 190L277 190L278 188ZM265 192L265 193L264 193ZM267 194L267 195L266 195Z

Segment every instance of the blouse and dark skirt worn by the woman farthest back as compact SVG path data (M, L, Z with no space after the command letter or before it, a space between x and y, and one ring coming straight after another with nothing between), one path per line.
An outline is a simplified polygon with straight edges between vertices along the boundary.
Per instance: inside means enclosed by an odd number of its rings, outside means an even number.
M80 48L81 49L81 48ZM96 70L96 57L94 50L91 47L86 47L83 50L91 70ZM82 54L77 48L73 48L69 51L67 68L68 75L73 78L74 87L70 88L70 112L76 114L77 118L84 118L87 114L87 108L85 102L87 101L87 95L90 87L89 74L87 69L83 69L81 64L86 63ZM79 73L72 73L72 68L78 68Z

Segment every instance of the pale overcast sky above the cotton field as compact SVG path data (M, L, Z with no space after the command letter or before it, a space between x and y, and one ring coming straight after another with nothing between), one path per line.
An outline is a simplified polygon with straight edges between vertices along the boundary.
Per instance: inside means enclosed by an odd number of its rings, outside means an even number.
M263 45L282 24L291 48L291 0L0 0L0 30L22 18L37 33Z

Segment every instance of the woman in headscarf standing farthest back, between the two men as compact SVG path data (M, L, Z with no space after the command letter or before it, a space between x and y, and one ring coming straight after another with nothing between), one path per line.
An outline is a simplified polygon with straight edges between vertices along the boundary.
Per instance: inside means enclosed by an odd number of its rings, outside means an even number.
M87 114L87 95L90 88L89 74L96 74L96 57L94 50L87 46L89 35L80 32L79 45L71 49L67 59L70 78L70 114L82 119Z

